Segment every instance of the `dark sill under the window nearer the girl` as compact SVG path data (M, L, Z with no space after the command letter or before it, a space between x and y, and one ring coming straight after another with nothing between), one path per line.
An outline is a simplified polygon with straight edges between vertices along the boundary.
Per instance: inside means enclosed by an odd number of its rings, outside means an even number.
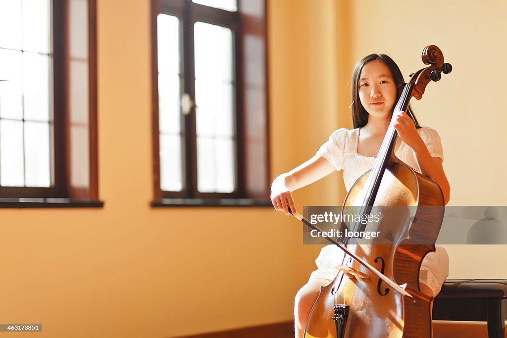
M163 198L154 200L152 207L272 207L270 200L251 198Z

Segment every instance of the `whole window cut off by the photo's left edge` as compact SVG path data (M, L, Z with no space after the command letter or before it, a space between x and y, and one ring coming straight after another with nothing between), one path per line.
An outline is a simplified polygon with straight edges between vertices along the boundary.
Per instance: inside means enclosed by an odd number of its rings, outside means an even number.
M102 205L94 18L95 0L0 0L0 206Z

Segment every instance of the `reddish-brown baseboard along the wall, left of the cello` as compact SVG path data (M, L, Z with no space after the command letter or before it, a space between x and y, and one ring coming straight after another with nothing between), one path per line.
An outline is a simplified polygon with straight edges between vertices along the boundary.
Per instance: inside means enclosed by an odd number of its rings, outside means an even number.
M294 322L244 327L220 332L180 336L177 338L293 338Z

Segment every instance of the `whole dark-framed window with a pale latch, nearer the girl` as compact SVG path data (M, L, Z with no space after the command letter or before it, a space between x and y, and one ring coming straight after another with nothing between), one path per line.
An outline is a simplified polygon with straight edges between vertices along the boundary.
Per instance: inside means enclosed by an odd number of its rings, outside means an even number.
M262 0L153 0L155 202L268 199Z

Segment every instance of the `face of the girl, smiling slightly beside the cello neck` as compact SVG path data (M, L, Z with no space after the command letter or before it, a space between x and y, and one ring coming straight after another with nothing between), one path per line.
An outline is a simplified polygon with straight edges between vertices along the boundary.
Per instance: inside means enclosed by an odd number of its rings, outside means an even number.
M371 116L387 119L396 101L391 71L380 60L368 62L359 76L359 99Z

